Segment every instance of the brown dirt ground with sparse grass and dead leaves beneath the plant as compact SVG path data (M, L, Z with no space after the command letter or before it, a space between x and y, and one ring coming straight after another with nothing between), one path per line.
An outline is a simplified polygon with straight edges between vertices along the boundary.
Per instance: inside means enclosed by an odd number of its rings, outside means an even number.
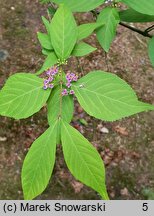
M40 68L44 57L36 32L44 30L41 16L46 16L46 8L38 0L0 0L0 87L15 72L34 73ZM93 20L89 13L76 17L79 24ZM137 26L144 29L148 24ZM127 81L139 99L154 104L154 70L148 59L148 39L119 26L108 55L95 35L86 41L97 51L79 62L70 59L69 70L79 76L96 69L110 71ZM111 199L154 199L154 112L108 123L89 117L75 102L72 124L101 154ZM34 139L47 127L45 108L26 120L0 117L0 199L23 199L23 159ZM59 145L53 177L37 199L100 197L68 172Z

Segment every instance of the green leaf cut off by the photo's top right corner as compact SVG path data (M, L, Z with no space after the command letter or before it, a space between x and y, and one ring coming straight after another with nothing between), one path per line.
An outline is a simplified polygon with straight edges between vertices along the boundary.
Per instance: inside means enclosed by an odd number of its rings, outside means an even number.
M121 0L134 10L148 15L154 15L154 1L153 0Z

